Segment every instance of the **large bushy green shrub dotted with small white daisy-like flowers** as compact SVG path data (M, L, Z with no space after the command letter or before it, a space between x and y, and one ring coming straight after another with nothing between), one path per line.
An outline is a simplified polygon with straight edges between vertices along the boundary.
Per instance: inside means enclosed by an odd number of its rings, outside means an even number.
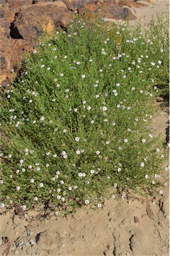
M150 123L168 47L129 29L74 21L25 59L3 95L1 207L73 211L154 193L164 155Z

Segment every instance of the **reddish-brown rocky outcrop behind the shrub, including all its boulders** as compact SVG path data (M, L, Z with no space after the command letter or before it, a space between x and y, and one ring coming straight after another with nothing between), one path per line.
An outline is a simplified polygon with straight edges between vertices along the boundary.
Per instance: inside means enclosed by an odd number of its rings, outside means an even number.
M45 31L52 35L66 27L75 11L87 19L135 19L129 7L141 7L135 0L0 0L0 83L9 84L11 69L22 60L22 53L33 49Z

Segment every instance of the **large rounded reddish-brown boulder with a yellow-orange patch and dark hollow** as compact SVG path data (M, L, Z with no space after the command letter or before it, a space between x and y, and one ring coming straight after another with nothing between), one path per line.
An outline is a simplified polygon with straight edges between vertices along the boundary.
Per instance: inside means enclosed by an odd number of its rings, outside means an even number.
M61 3L61 1L60 1ZM55 2L37 3L22 9L13 22L13 33L31 41L43 32L52 33L57 27L65 27L71 22L71 11Z

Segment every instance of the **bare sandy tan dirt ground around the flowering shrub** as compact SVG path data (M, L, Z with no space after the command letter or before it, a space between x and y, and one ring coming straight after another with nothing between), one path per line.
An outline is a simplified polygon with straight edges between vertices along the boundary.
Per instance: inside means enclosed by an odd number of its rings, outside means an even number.
M144 2L144 1L142 1ZM146 2L145 2L146 3ZM142 25L157 12L169 13L169 1L132 9ZM135 21L136 22L136 21ZM155 136L167 137L167 107L157 105ZM168 165L168 163L167 163ZM163 168L163 175L169 172ZM167 256L169 255L169 186L155 199L110 199L99 211L79 209L67 217L41 216L36 211L0 216L3 256Z

